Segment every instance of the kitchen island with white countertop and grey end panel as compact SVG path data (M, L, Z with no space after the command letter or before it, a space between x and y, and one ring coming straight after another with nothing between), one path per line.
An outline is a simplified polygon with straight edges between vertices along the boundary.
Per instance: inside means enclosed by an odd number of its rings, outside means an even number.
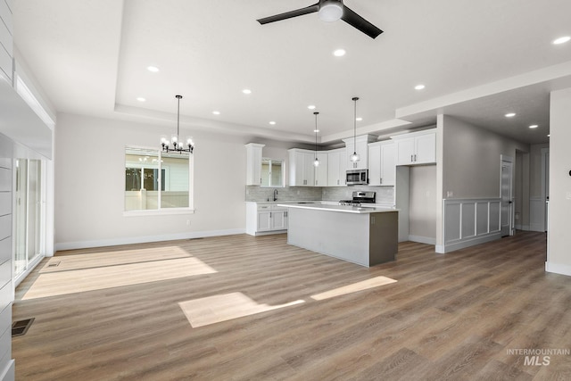
M394 261L398 211L388 208L283 203L287 243L361 266Z

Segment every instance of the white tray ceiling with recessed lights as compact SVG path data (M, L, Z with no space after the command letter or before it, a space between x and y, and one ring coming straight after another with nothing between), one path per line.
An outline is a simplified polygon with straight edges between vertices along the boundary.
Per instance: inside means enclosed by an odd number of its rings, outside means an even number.
M359 96L358 135L445 112L549 141L549 92L571 86L571 43L550 43L571 35L569 0L345 0L385 31L376 39L316 13L256 21L314 2L16 0L14 45L57 112L158 123L180 94L182 128L312 142L315 104L328 144L352 136Z

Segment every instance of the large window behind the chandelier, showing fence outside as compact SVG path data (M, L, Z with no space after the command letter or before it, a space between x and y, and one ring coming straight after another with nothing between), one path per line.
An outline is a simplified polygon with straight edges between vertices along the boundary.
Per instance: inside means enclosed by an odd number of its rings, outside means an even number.
M145 148L125 149L125 211L188 209L191 156Z

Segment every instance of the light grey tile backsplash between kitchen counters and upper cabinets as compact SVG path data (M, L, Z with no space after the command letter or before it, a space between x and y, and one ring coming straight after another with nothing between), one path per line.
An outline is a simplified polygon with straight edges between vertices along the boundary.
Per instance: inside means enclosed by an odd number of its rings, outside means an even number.
M394 186L246 186L245 201L272 201L277 189L277 201L339 201L349 200L354 191L377 192L377 203L394 203Z

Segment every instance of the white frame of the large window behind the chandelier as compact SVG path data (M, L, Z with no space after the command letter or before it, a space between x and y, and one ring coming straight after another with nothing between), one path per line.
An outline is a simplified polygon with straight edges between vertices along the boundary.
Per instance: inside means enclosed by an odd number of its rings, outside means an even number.
M143 164L133 164L128 165L125 156L128 154L128 151L148 151L158 153L158 166L154 168L153 166L145 167ZM161 190L161 186L159 186L159 194L158 194L158 205L157 209L139 209L134 211L126 211L125 210L125 171L128 168L145 168L145 169L157 169L159 173L158 182L161 184L161 173L162 170L165 170L165 182L170 178L170 170L168 168L162 168L161 166L161 159L162 159L162 150L160 148L149 148L148 146L139 146L139 145L125 145L123 149L123 166L122 166L122 198L123 198L123 216L124 217L137 217L137 216L164 216L164 215L176 215L176 214L194 214L194 153L188 153L188 206L187 207L180 207L180 208L161 208L161 192L166 192L169 189L169 186L165 185L165 190ZM142 181L144 181L142 179ZM165 183L166 184L166 183Z

